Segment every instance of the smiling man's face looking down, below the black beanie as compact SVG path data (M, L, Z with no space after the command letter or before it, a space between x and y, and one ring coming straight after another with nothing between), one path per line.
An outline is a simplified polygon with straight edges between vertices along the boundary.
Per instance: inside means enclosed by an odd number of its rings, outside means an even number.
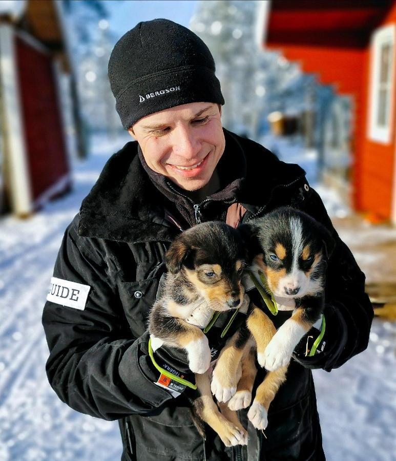
M225 148L221 106L192 102L148 115L129 130L152 170L187 191L212 177Z

